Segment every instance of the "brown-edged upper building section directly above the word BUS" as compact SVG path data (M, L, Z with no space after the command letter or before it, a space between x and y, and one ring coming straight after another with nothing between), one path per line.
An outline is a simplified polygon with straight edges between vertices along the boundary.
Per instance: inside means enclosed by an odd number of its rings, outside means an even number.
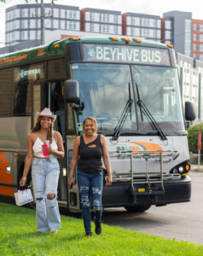
M122 15L122 20L123 35L160 42L161 19L159 16L125 13Z

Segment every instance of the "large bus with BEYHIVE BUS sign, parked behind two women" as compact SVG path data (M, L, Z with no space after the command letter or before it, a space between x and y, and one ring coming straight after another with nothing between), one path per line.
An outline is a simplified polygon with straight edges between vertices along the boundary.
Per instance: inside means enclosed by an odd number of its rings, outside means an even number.
M190 200L186 121L194 108L180 97L171 45L130 38L67 38L0 56L0 198L14 200L35 113L57 115L66 157L59 201L80 211L78 181L67 188L75 137L87 116L107 138L113 185L103 207L146 211ZM105 173L105 169L104 169ZM105 181L104 181L105 183ZM32 184L31 177L27 185Z

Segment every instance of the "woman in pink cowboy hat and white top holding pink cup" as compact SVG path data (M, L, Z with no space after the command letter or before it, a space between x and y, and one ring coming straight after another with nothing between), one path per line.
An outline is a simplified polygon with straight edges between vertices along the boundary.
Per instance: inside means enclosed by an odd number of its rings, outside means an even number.
M37 229L57 233L61 218L57 202L60 167L57 158L64 157L61 134L53 131L56 116L49 108L36 113L37 123L27 138L27 154L20 186L32 166L32 183L36 200Z

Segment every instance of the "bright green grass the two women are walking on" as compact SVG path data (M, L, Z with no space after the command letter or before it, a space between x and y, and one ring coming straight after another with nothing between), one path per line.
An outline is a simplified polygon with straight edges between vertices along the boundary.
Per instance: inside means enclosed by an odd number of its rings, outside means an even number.
M94 224L92 224L94 227ZM57 235L36 231L35 212L0 203L0 255L203 255L203 246L102 224L102 235L84 237L81 219L61 216Z

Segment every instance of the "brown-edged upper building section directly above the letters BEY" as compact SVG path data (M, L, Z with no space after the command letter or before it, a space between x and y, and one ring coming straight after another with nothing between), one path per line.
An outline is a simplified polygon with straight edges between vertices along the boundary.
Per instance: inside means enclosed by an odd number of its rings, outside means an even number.
M84 8L80 16L82 32L122 34L122 15L119 11Z

